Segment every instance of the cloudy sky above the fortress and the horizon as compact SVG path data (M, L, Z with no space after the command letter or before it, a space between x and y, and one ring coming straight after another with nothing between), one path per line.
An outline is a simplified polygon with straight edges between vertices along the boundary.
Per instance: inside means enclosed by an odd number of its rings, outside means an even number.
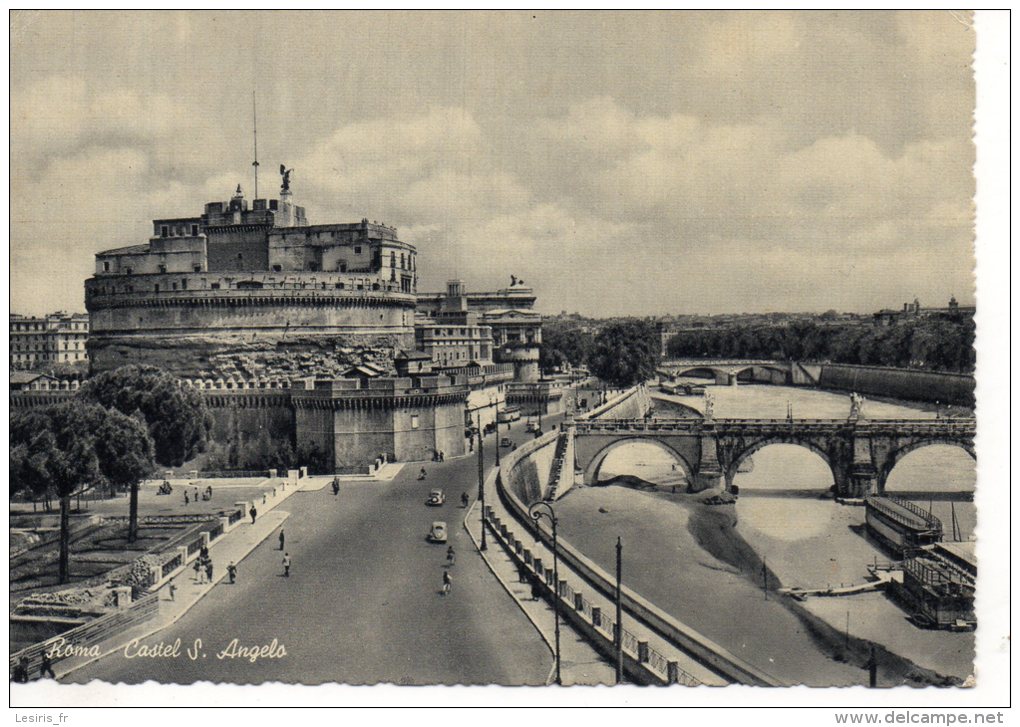
M973 301L970 18L933 13L11 16L11 309L294 167L396 225L422 290L591 315Z

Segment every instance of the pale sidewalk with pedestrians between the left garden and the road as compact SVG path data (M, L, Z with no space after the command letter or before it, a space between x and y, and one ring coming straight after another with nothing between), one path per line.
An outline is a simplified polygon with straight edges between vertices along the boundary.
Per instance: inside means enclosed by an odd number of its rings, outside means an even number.
M143 640L181 619L206 593L212 590L216 583L226 577L227 563L233 561L235 564L240 564L249 553L284 524L284 521L290 517L290 513L283 510L277 511L276 507L295 492L305 490L308 484L314 483L302 480L297 483L287 482L286 487L277 485L276 497L270 496L265 505L256 503L259 514L254 524L250 518L246 517L233 530L209 546L209 557L215 564L213 582L197 583L194 580L194 571L190 567L186 568L171 579L177 586L173 601L169 600L167 584L163 584L159 588L159 613L156 616L135 628L115 633L105 641L100 642L98 644L100 656L98 657L68 657L57 662L54 665L57 679L59 680L61 677L114 652L121 651L135 639ZM318 487L312 486L311 488Z

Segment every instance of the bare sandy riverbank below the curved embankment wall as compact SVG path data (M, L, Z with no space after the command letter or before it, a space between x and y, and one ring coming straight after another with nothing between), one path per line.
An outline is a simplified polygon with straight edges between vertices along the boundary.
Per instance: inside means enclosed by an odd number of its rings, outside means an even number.
M786 570L778 556L765 557L766 598L763 559L737 527L736 509L706 506L703 498L619 485L577 488L559 502L560 529L607 569L619 534L627 585L779 680L867 684L870 642L855 632L848 639L825 614L776 593ZM883 686L962 681L882 645L876 652Z

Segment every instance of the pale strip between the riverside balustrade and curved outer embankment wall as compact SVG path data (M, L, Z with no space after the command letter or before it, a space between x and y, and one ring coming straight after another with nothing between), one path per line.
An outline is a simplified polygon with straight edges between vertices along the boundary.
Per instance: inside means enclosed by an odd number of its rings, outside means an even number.
M529 530L527 530L523 525L517 522L517 520L510 514L510 512L504 507L502 500L495 492L495 485L492 487L493 497L486 501L486 505L493 509L493 514L500 519L500 521L506 524L513 536L525 543L525 548L531 551L533 557L541 558L544 564L551 566L553 563L553 554L550 549L548 549L545 543L540 540L536 540L534 536ZM475 520L477 518L474 518ZM477 525L475 525L475 530L477 530ZM499 552L503 558L510 561L509 555L506 554L503 546L500 543L499 539L495 536L490 538L490 548L488 553L494 554ZM495 546L495 547L494 547ZM513 581L517 580L517 571L513 567L511 561L511 568L513 568L513 575L511 576ZM615 613L615 604L603 595L600 591L592 587L590 583L583 580L579 575L573 572L567 565L560 561L560 579L565 580L567 585L574 592L582 592L584 594L584 600L592 606L599 607L603 614L611 615ZM521 589L527 588L525 584L518 586ZM530 596L530 591L527 591L527 596ZM534 602L528 602L534 603ZM541 602L545 604L545 602ZM522 606L523 608L523 606ZM570 608L568 605L564 604L563 608ZM552 614L552 607L546 606L546 610ZM562 624L562 619L561 619ZM679 668L686 672L688 675L693 676L695 679L700 681L702 684L713 685L713 686L724 686L728 683L726 679L719 676L715 672L711 671L703 664L695 660L687 654L679 651L672 642L663 638L658 632L653 631L651 628L646 626L644 623L635 620L633 617L628 616L626 612L623 614L623 628L629 631L639 641L647 641L651 648L655 650L661 655L668 657L668 659L677 662ZM540 629L541 630L541 629ZM563 644L562 638L562 625L561 625L561 650ZM564 652L564 655L566 652ZM564 657L564 666L566 665L566 657ZM612 681L608 683L613 683Z

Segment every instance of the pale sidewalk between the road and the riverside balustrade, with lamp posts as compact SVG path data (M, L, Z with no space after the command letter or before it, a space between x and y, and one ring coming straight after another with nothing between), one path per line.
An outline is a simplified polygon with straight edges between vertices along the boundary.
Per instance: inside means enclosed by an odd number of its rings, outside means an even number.
M468 509L467 515L464 517L464 528L477 549L481 533L477 502L474 502ZM517 606L524 612L528 620L534 624L536 629L549 644L550 652L555 655L556 615L553 612L553 607L544 599L531 601L530 586L527 583L518 582L517 567L507 552L503 550L503 546L492 536L491 532L486 533L486 535L488 549L484 553L479 551L478 555L486 561L489 569L499 579L507 592L517 602ZM566 619L562 617L560 618L560 654L563 660L560 665L563 686L616 683L615 668L603 661L583 636L574 631ZM549 683L553 683L556 678L555 668L554 663L553 671L549 674Z

